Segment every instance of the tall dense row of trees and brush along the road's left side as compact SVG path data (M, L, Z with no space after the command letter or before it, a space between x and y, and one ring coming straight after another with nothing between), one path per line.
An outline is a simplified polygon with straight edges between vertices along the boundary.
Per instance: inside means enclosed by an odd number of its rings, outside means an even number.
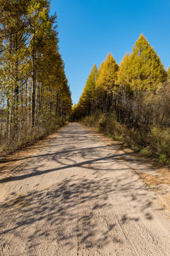
M72 110L49 0L0 0L0 151L47 134Z

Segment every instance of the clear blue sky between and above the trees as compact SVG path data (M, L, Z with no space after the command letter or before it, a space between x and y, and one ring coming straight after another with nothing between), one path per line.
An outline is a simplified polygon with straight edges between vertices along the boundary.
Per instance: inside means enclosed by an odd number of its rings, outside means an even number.
M86 84L94 63L100 66L111 52L120 64L143 33L170 65L170 0L51 0L57 13L60 53L73 103Z

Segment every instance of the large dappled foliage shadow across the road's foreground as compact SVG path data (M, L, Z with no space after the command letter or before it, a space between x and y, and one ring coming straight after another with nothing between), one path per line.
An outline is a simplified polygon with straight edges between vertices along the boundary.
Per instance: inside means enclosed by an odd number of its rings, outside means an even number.
M50 241L68 251L77 247L100 250L110 243L123 244L123 238L118 235L120 224L137 223L139 217L116 216L115 209L121 202L111 203L109 197L123 190L126 196L132 197L128 187L129 184L113 186L108 178L96 181L95 177L72 176L45 191L31 191L21 196L12 193L6 198L6 203L1 204L4 224L1 223L0 234L8 234L13 242L16 237L24 240L28 255L36 255L35 249L43 241ZM140 201L140 196L142 194L138 193L130 200ZM145 211L150 207L149 202L145 201L142 207L141 210ZM147 217L152 219L152 215Z

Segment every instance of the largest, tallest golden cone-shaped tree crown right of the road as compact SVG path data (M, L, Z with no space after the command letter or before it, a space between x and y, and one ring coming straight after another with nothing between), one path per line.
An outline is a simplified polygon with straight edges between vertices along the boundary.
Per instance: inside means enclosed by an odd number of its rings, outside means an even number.
M157 90L160 82L166 80L166 70L159 55L142 34L120 64L118 82L131 92Z

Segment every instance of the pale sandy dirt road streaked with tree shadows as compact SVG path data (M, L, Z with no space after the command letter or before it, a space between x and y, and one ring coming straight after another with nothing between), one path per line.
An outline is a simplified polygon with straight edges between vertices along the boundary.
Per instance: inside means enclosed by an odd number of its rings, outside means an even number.
M77 123L18 154L0 177L0 255L169 256L169 212L128 157Z

